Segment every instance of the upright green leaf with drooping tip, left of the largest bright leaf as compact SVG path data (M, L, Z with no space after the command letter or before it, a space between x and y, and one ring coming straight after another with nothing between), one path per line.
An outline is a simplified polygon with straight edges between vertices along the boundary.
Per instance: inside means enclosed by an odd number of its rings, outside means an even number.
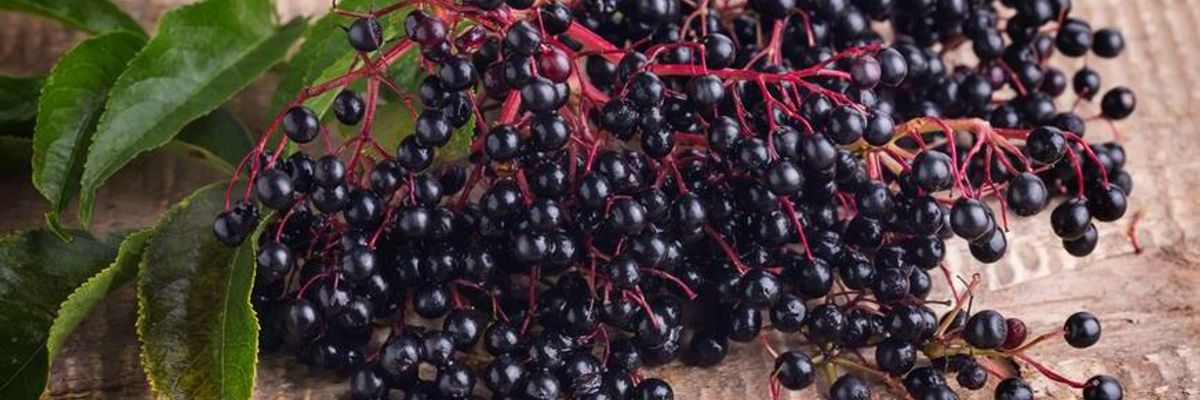
M108 91L125 65L145 44L116 31L80 42L50 71L34 131L34 186L50 202L47 223L60 232L59 216L79 193L88 147Z

